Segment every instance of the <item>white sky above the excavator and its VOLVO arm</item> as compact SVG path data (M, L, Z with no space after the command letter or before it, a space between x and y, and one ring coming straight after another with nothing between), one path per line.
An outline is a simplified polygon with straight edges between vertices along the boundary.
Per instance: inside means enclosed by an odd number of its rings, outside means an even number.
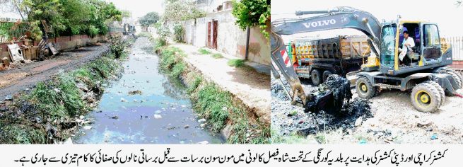
M372 13L379 21L396 20L400 15L404 20L419 20L438 23L441 36L462 36L463 6L457 7L457 0L418 1L418 0L271 0L271 19L298 18L295 11L329 10L336 6L351 6L362 11ZM307 16L306 16L307 17ZM321 38L335 37L336 35L363 35L357 30L341 29L304 33L293 35L291 38L301 36L317 36ZM290 37L283 37L285 41Z

